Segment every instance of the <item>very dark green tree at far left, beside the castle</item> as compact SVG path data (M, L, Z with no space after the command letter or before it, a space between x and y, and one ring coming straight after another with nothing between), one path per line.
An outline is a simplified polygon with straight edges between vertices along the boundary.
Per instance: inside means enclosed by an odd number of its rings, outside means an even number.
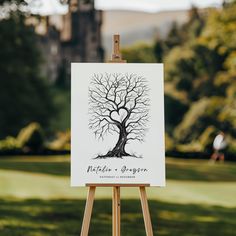
M32 121L48 127L55 109L41 77L34 29L20 11L0 20L0 138L15 136Z

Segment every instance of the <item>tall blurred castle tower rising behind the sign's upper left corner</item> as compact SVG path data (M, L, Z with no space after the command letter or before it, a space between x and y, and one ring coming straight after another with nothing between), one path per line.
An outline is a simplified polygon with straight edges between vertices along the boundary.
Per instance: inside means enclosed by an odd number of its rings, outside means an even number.
M63 22L63 57L70 62L102 62L102 12L94 8L94 0L70 0Z

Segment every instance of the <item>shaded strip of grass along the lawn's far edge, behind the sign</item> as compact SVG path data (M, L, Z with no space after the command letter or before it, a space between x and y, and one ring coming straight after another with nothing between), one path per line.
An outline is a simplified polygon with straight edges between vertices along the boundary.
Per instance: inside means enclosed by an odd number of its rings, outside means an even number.
M0 157L0 169L69 176L70 157ZM236 164L167 158L166 175L172 180L236 182Z

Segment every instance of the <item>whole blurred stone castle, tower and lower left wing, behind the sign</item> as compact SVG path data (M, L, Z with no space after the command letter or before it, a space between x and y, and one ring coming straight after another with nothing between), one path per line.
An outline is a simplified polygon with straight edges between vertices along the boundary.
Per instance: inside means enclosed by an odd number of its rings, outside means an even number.
M70 77L71 62L102 62L102 12L94 0L69 0L66 15L45 18L46 30L40 36L44 76L55 81L64 70Z

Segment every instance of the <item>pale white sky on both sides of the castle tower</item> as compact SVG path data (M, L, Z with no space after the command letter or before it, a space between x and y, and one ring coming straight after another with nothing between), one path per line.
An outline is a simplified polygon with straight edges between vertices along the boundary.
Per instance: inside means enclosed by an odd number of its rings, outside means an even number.
M65 14L68 6L59 0L27 0L31 12L40 15ZM197 7L219 6L223 0L95 0L96 9L159 12Z

